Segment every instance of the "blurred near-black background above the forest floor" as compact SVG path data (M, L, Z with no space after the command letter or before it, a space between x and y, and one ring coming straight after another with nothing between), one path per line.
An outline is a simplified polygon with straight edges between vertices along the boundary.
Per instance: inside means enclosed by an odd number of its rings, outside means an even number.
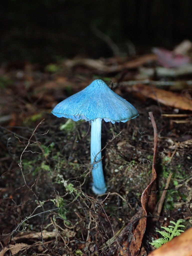
M191 0L2 0L1 61L48 63L74 56L113 56L94 28L120 52L172 49L192 40Z

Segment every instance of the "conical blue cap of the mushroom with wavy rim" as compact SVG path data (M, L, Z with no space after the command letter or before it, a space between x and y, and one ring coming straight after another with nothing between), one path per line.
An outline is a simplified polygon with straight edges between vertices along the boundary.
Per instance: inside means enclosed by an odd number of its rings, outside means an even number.
M139 114L131 103L113 92L100 79L58 103L51 113L73 121L84 119L91 122L100 118L112 123L126 122Z

